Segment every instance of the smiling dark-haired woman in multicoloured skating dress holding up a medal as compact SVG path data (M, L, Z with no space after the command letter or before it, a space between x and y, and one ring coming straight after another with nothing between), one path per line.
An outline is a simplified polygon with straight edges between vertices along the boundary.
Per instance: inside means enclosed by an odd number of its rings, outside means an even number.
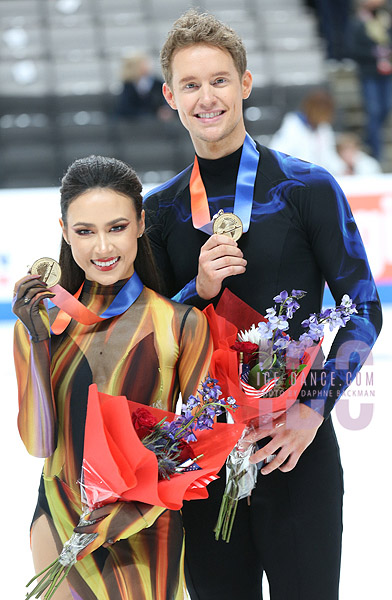
M15 286L18 426L28 451L46 457L31 528L37 572L58 556L81 514L89 385L172 411L179 391L196 391L211 355L204 315L153 291L141 183L130 167L99 156L75 161L62 180L60 224L61 284L71 293L82 285L83 305L115 316L89 326L72 319L50 335L58 309L48 318L41 300L53 294L32 275ZM94 551L71 569L58 600L184 597L179 513L131 502L94 517L104 518L83 528L98 533Z

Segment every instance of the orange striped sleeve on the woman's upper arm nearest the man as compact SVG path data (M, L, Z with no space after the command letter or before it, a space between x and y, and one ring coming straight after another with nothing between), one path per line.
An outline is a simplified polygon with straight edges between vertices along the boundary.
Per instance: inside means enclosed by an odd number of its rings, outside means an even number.
M178 363L180 390L184 399L195 394L208 374L212 351L207 318L197 308L189 308L184 316Z

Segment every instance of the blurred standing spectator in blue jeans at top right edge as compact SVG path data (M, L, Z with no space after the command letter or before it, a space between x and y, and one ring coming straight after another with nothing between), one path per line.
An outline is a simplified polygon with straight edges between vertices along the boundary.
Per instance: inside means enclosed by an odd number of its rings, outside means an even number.
M382 155L382 127L392 107L392 19L386 0L357 0L349 28L351 57L358 65L366 113L365 142Z

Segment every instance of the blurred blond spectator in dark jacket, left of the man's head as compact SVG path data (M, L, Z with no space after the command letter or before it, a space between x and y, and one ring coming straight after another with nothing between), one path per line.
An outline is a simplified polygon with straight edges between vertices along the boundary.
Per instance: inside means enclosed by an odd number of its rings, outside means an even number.
M118 97L116 114L125 118L156 116L172 118L172 110L162 94L162 80L155 77L151 59L144 54L124 58L122 90Z

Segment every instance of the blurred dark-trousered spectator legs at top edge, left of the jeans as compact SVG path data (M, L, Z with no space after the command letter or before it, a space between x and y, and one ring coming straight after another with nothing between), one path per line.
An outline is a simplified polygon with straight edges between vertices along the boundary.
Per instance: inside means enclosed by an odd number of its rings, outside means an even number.
M319 29L325 39L327 58L347 58L346 35L351 12L351 0L306 0L315 9Z

